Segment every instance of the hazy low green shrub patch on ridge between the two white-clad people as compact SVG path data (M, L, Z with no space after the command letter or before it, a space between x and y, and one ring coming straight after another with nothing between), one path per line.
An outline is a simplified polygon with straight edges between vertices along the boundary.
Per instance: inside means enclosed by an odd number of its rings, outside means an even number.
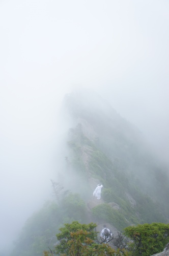
M128 226L128 222L119 210L113 209L109 204L99 204L92 209L92 213L98 219L104 220L115 226L118 230L122 230Z

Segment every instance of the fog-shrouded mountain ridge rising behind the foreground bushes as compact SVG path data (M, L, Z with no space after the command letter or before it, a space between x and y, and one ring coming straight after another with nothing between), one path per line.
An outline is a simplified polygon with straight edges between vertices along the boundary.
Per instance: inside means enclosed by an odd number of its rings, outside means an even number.
M57 158L62 168L52 181L54 199L25 223L13 256L42 255L73 220L96 222L98 231L104 223L113 233L168 221L168 176L134 125L91 91L66 95L62 119L64 164ZM93 197L97 184L103 185L100 200Z

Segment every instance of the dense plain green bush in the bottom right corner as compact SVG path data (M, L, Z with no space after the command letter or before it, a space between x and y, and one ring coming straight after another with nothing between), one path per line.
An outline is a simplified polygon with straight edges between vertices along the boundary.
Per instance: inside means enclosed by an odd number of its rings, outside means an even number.
M169 242L169 224L139 224L126 227L124 230L125 236L132 240L129 250L133 256L150 256L162 251Z

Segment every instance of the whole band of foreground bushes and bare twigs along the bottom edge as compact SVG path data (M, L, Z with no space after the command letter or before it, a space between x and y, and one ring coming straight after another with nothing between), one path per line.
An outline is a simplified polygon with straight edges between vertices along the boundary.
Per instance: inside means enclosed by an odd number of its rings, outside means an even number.
M169 224L152 223L129 226L124 234L112 235L108 242L98 239L95 223L80 224L77 221L66 223L60 228L58 244L53 250L44 251L50 255L131 255L150 256L163 250L169 242ZM116 246L116 250L112 249Z

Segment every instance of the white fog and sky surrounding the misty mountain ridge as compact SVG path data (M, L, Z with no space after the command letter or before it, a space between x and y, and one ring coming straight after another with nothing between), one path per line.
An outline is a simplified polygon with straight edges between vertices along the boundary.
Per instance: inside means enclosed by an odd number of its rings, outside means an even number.
M109 101L168 163L168 27L165 0L0 1L1 249L50 196L73 88Z

